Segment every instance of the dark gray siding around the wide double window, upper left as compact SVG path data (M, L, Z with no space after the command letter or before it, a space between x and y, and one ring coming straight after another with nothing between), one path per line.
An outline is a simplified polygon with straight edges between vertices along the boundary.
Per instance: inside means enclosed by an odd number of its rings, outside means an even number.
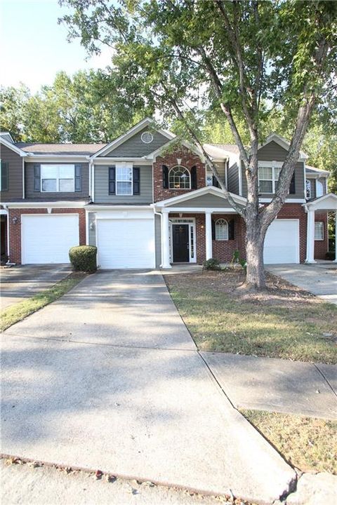
M62 162L60 162L62 163ZM81 165L82 166L82 191L55 192L34 191L34 166L35 165L58 165L60 163L25 163L25 191L26 198L37 198L41 200L74 200L88 198L89 196L89 166L88 163L62 163L62 165Z

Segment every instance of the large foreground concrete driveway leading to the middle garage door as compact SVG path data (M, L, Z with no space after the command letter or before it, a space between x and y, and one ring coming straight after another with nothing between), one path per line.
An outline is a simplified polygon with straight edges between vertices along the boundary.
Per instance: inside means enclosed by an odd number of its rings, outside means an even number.
M272 503L293 470L232 408L161 275L104 271L3 334L2 452Z

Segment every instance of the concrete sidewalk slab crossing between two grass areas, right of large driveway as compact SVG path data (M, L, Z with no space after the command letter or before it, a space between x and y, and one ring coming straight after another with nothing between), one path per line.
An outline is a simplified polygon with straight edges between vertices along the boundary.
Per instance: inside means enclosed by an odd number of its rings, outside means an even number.
M236 408L337 419L337 365L214 352L201 356Z

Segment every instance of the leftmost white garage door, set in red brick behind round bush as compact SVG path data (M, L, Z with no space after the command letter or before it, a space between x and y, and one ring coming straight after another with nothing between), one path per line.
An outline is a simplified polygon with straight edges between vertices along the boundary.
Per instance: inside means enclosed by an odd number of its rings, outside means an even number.
M22 215L22 264L69 263L69 250L79 245L79 215Z

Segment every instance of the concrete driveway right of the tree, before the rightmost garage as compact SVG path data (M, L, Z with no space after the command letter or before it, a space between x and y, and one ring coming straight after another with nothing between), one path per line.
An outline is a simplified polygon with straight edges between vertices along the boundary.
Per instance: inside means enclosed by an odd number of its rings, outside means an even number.
M267 265L267 271L286 279L303 290L337 305L337 264L317 262L315 264Z

